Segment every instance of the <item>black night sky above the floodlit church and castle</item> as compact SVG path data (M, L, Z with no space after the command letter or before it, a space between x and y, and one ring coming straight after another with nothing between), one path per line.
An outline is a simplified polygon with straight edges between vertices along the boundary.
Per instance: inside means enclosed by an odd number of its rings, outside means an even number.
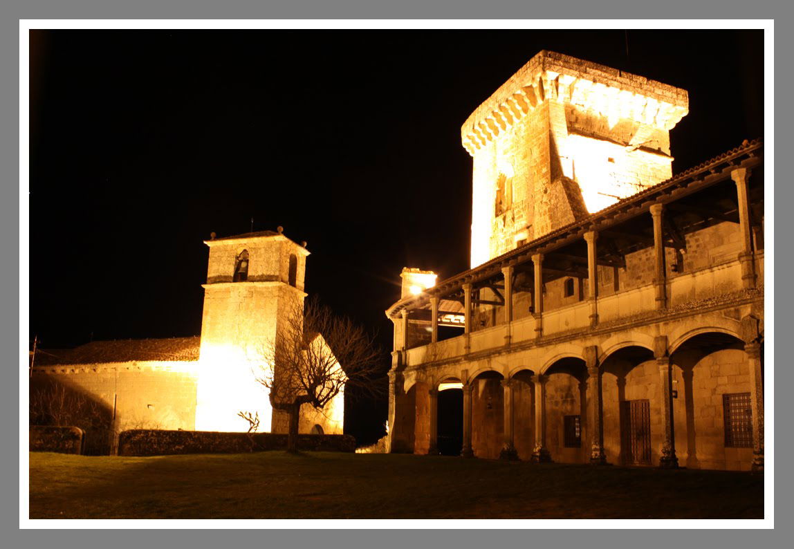
M403 267L468 268L460 128L549 49L689 92L673 174L763 133L761 31L31 33L30 327L195 336L210 232L284 227L306 291L379 333ZM380 422L385 399L372 405Z

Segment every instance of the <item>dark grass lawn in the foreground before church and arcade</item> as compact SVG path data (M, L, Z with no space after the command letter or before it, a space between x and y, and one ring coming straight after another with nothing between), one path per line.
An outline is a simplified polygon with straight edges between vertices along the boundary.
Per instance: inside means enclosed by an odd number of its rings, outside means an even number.
M30 454L30 518L763 518L748 473L281 451Z

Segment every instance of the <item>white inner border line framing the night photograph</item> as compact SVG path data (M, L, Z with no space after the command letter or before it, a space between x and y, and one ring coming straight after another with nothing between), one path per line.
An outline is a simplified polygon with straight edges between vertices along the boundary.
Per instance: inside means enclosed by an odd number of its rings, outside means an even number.
M774 21L760 20L161 20L21 19L19 24L19 300L20 326L29 317L29 40L31 29L763 29L764 32L764 193L765 241L774 250ZM530 54L531 55L531 52ZM754 137L754 136L749 136ZM705 159L703 159L705 160ZM765 352L774 357L774 253L765 254ZM771 350L772 352L769 352ZM19 508L20 528L774 528L774 391L765 391L764 520L30 520L28 447L28 334L20 329ZM767 359L769 360L769 359ZM765 386L774 387L773 367ZM593 501L598 505L598 501Z

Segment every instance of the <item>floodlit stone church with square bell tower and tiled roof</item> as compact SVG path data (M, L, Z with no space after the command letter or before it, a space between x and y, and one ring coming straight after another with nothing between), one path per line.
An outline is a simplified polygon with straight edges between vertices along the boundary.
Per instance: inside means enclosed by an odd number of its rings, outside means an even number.
M264 231L206 240L210 248L200 337L93 342L42 351L33 367L44 378L89 397L129 428L245 432L238 412L258 414L259 431L287 432L272 413L255 372L287 315L302 308L305 244ZM316 336L311 344L322 344ZM35 385L36 383L33 383ZM344 394L323 410L303 406L299 432L341 434Z

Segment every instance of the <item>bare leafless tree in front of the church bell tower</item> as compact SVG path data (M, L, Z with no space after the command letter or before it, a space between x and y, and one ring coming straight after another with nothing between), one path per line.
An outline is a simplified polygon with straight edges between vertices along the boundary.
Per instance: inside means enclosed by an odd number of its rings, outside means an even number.
M382 376L375 340L346 317L337 317L316 299L283 319L276 340L264 350L256 381L270 392L273 409L289 417L287 451L296 452L300 408L325 408L345 388L376 394Z

